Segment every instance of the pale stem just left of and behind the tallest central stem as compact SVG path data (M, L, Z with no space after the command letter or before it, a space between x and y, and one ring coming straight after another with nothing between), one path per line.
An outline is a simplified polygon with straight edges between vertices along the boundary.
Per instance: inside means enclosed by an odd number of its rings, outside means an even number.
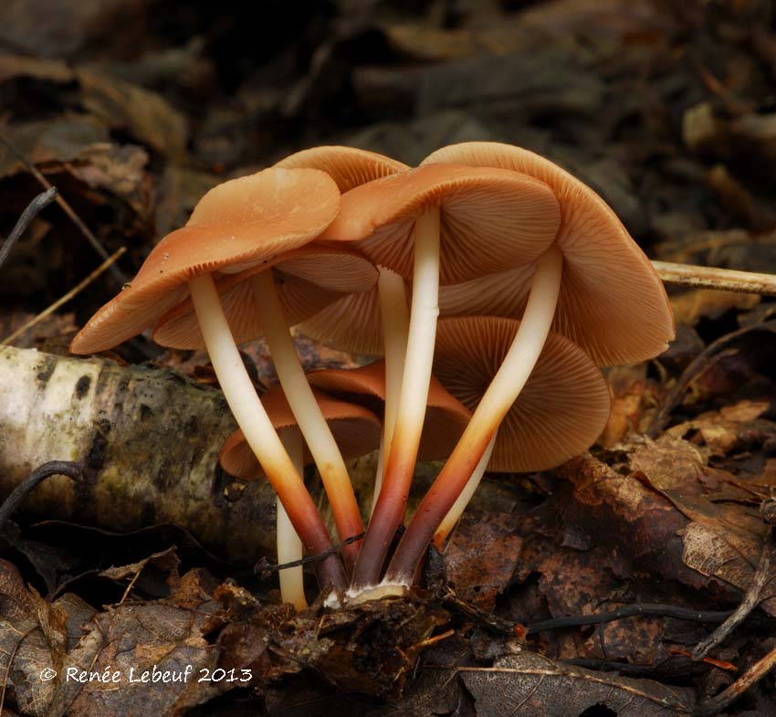
M380 294L380 318L383 323L383 349L385 355L385 410L383 413L383 437L380 452L377 455L377 472L374 478L372 510L383 486L383 459L390 449L393 427L396 425L396 412L399 392L404 374L404 355L407 353L407 334L410 317L407 310L407 293L404 290L404 278L394 274L391 269L380 268L377 280Z

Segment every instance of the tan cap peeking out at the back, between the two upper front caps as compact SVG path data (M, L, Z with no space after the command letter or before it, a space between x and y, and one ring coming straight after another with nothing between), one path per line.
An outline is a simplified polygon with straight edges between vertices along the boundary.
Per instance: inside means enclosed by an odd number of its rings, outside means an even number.
M406 164L383 154L334 144L290 154L275 166L320 169L330 175L342 194L373 179L409 169Z

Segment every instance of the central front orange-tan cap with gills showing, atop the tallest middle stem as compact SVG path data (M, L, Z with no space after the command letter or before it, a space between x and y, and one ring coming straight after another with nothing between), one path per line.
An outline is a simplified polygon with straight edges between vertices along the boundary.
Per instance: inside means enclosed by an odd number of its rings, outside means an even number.
M551 188L524 174L461 163L428 164L342 195L321 239L354 241L375 264L412 279L414 224L440 208L439 281L454 284L530 263L561 222Z

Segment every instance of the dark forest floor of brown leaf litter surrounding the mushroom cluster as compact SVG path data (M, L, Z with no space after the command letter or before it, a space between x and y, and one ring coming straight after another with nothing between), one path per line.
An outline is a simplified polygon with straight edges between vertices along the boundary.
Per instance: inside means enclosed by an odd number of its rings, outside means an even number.
M267 0L260 24L242 5L5 0L0 236L47 183L67 207L44 208L0 266L0 342L56 357L29 369L43 385L204 191L317 144L411 164L453 142L518 144L603 195L650 258L776 273L768 0ZM171 459L151 475L125 451L47 480L0 510L0 713L776 715L776 303L670 298L676 341L608 370L596 445L489 476L412 599L280 606L250 560L274 558L271 496L215 471L179 477ZM307 367L358 361L299 348ZM8 351L0 386L21 385L29 354ZM266 345L245 353L266 387ZM232 429L204 353L138 337L78 361L148 382L160 412L185 406L199 430L174 450L214 457ZM56 425L13 443L20 410L0 406L4 495L73 459ZM184 432L154 426L160 445ZM100 494L109 468L120 478ZM193 676L124 679L138 665ZM68 666L121 680L66 680Z

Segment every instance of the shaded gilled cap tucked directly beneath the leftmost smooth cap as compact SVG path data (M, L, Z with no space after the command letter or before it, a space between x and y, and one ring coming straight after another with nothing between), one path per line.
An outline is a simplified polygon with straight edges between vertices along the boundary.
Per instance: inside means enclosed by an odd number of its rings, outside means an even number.
M341 301L343 296L370 290L377 280L377 269L360 253L316 242L227 276L217 281L215 287L236 343L264 335L250 279L267 270L274 272L289 326L304 321L332 302ZM153 340L176 349L204 347L191 298L164 314L154 329Z

